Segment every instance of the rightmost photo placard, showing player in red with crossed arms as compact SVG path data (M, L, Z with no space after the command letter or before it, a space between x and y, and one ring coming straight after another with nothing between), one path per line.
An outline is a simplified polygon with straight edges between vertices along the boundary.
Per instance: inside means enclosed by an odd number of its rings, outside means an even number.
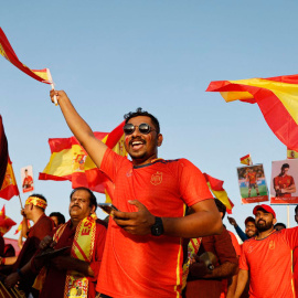
M298 204L298 159L273 161L270 181L272 204Z

